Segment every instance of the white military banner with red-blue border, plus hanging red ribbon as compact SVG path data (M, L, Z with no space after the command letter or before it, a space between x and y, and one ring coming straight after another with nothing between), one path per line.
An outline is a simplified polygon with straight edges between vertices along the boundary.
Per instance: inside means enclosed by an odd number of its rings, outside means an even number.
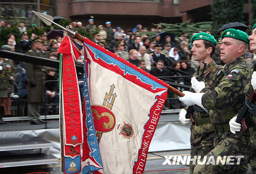
M79 49L69 37L67 39L73 51L72 59L77 58L74 50ZM65 58L68 56L63 54L62 79L66 76L66 81L70 81L69 65L72 64ZM93 171L95 174L142 174L169 85L86 38L84 70L82 126L74 127L72 131L76 134L72 135L65 133L65 124L62 124L64 173L76 174L81 170L83 174ZM61 88L67 85L71 88L63 80ZM73 84L72 89L74 86L77 84ZM65 95L67 101L70 97L68 90L67 94L63 93L64 101ZM62 123L68 119L63 118ZM79 118L76 119L76 123L80 123ZM71 143L67 143L68 139Z

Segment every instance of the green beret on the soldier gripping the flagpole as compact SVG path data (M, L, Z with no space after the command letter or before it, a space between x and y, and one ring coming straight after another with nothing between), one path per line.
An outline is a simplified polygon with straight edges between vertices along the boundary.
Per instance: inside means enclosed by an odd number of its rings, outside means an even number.
M241 31L241 30L226 29L221 34L221 40L223 40L224 37L231 37L237 40L241 40L247 44L250 44L249 36L244 31Z

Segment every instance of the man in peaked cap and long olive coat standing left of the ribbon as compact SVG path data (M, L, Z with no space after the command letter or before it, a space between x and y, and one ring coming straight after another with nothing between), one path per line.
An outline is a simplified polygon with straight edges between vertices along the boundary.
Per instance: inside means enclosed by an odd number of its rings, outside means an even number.
M28 51L29 54L40 56L41 52L41 39L36 38L32 43L32 49ZM45 123L39 118L40 106L44 102L44 80L45 70L44 66L36 65L32 63L26 63L26 74L28 77L28 117L31 124Z

